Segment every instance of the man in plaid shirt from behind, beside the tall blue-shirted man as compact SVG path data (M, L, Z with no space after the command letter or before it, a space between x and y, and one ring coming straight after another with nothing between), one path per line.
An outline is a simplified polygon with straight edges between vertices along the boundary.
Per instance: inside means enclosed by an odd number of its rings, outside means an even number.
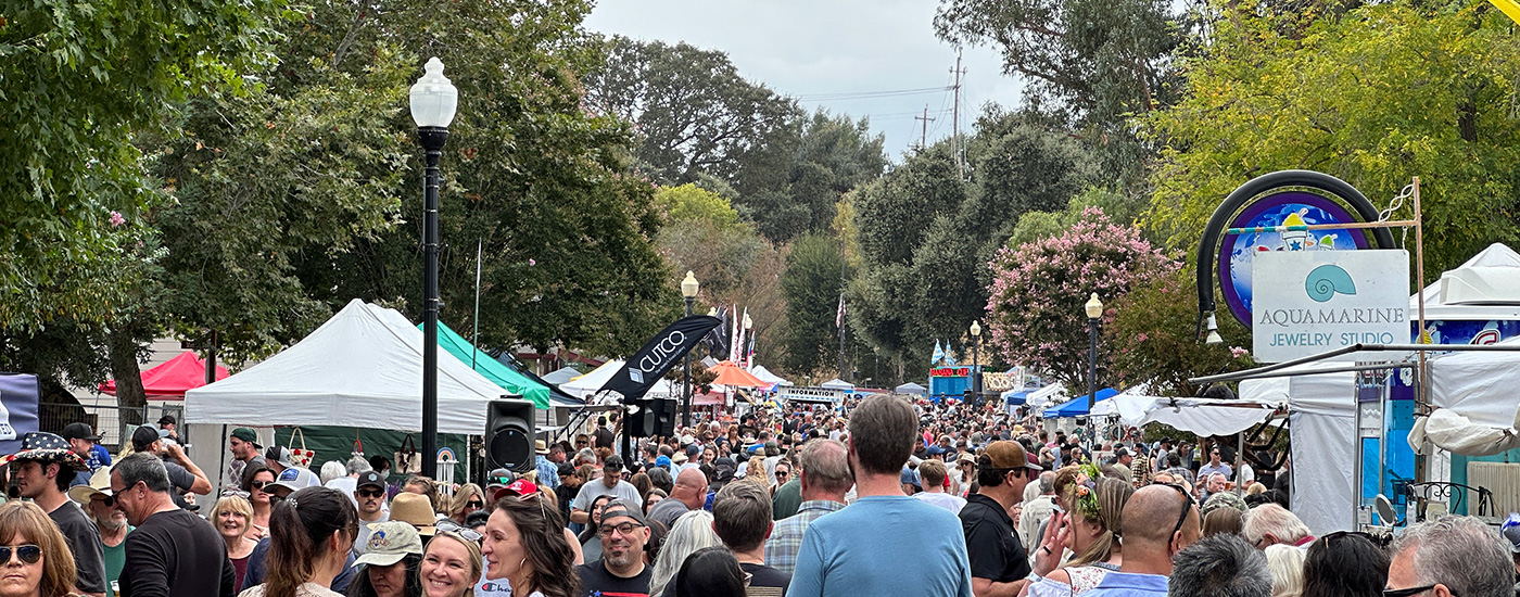
M796 550L803 547L803 532L819 516L845 507L845 494L854 486L850 477L850 448L838 439L815 439L798 454L803 503L796 515L783 518L771 529L765 542L766 565L792 574Z

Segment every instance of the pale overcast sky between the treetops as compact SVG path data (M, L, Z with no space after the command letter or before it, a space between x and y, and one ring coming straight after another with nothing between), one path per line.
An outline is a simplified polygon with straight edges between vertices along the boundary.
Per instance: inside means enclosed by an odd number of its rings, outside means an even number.
M809 109L869 115L871 128L886 137L891 160L901 161L923 132L914 117L924 106L936 118L929 123L930 143L950 135L948 91L821 96L950 87L956 52L935 38L936 6L936 0L599 0L585 26L727 52L743 77L800 97ZM1000 74L1000 64L996 50L965 50L962 134L983 103L1018 103L1020 85Z

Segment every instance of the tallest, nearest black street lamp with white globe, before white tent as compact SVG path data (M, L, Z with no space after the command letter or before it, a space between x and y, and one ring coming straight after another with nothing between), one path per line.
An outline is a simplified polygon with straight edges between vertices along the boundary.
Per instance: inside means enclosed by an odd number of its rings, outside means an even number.
M427 155L423 187L423 474L438 479L438 158L459 108L459 90L433 56L412 85L412 120Z

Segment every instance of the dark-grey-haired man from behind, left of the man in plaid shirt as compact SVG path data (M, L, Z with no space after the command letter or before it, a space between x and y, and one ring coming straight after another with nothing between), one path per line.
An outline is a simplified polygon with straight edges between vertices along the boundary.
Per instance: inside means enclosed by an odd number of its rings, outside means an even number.
M792 576L765 565L765 539L771 538L771 495L758 483L728 483L713 500L713 532L749 573L749 597L780 597Z

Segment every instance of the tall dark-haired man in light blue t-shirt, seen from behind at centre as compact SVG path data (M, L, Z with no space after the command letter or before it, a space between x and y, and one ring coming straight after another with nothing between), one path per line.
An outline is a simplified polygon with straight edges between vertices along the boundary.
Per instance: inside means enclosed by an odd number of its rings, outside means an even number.
M903 495L917 428L914 407L898 396L874 395L850 413L847 444L860 498L807 527L787 597L971 597L961 521ZM904 562L912 574L903 574Z

